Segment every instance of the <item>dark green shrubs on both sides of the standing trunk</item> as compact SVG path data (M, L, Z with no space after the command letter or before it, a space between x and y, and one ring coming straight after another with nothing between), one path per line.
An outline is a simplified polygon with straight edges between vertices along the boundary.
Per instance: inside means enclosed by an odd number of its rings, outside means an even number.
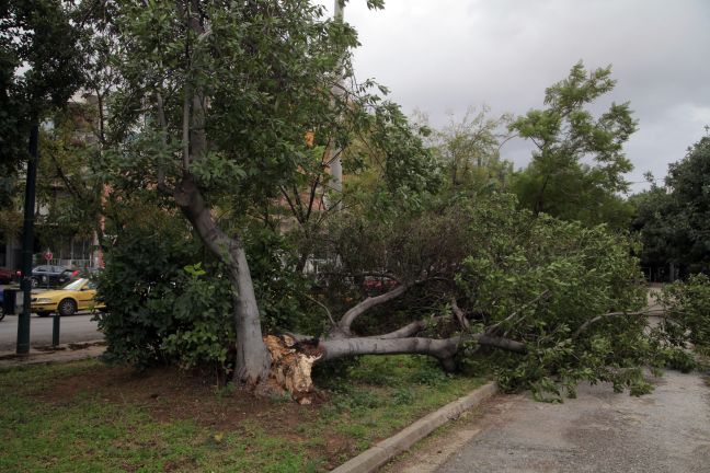
M104 358L139 368L175 362L228 371L236 336L227 272L173 212L141 209L149 214L134 215L121 229L99 279L107 308L96 315L107 342ZM254 227L245 244L264 327L321 333L324 319L304 297L308 282L282 261L283 236Z

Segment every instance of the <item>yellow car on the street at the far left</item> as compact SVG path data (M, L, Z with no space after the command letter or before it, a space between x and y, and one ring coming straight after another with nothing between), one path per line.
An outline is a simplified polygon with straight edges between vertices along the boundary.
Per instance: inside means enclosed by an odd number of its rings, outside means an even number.
M96 301L96 284L87 278L79 278L61 289L33 293L30 304L31 311L39 316L47 316L50 312L72 315L78 310L104 307Z

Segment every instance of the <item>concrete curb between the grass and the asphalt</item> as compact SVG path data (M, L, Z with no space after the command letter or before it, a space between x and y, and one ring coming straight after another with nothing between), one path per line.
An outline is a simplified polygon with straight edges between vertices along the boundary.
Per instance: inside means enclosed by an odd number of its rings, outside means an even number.
M376 443L357 457L332 470L332 473L371 473L385 463L409 450L414 443L430 435L449 420L456 419L461 413L478 406L493 394L497 393L497 384L490 382L472 393L459 397L438 411L416 420L404 430Z

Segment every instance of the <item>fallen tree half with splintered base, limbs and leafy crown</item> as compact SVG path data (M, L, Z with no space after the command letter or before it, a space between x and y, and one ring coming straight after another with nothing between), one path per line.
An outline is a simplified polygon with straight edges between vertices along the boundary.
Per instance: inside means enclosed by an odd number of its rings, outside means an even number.
M531 389L540 400L574 395L582 380L640 394L651 389L642 367L678 360L684 343L662 342L648 326L648 316L659 312L642 310L645 287L630 240L603 227L534 218L505 195L410 217L363 224L343 215L328 230L339 268L329 273L332 293L311 300L324 308L330 327L322 337L267 337L270 349L291 357L285 368L272 356L272 379L280 380L275 389L308 402L313 366L417 354L450 371L489 360L504 389ZM377 234L379 244L363 232ZM377 274L397 285L333 318L324 301L336 304L356 293L336 282L354 280L364 267L380 268ZM300 381L284 382L284 373Z

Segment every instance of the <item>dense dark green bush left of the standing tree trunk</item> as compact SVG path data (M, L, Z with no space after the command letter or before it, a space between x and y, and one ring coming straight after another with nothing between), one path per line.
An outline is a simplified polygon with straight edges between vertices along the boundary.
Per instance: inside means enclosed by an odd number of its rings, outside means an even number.
M201 354L213 351L213 339L199 339L206 320L192 323L194 318L202 318L193 309L204 309L205 299L185 297L191 282L199 286L194 275L184 270L198 261L199 246L170 215L158 211L151 217L151 227L137 222L123 230L106 254L106 269L99 278L99 297L107 309L96 315L106 337L104 359L138 368L165 364L170 360L167 349L175 355L179 347L191 343ZM179 300L186 305L179 305ZM211 315L228 318L227 313ZM220 326L229 326L226 320L220 322ZM193 333L196 341L191 339ZM183 354L176 355L180 359ZM187 362L195 358L190 353L184 356Z

